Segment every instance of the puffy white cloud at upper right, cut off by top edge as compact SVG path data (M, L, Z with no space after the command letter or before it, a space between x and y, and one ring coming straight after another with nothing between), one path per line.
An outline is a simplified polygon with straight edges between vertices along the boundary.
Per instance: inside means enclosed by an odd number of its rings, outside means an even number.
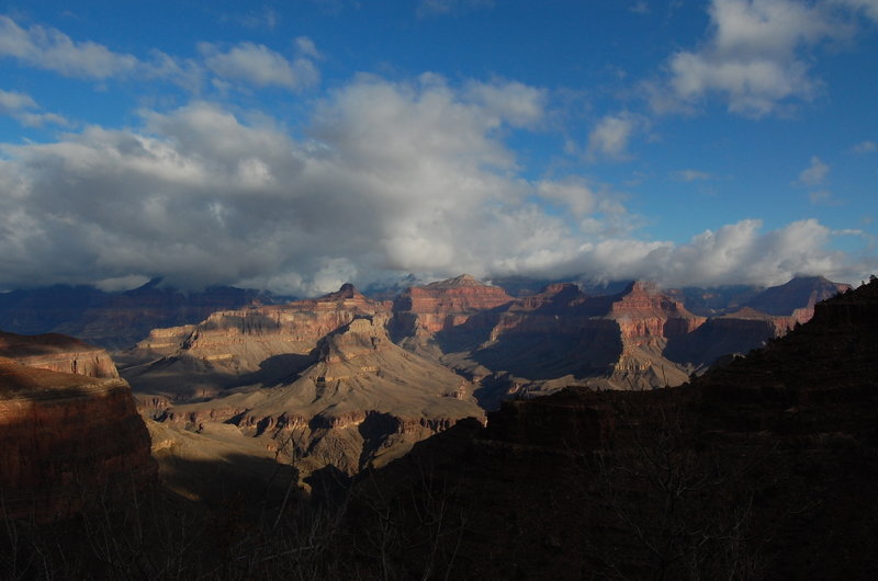
M719 95L730 112L762 117L809 101L821 82L802 49L847 33L822 4L793 0L712 0L708 12L703 46L673 55L666 84L649 87L654 110L690 107Z

